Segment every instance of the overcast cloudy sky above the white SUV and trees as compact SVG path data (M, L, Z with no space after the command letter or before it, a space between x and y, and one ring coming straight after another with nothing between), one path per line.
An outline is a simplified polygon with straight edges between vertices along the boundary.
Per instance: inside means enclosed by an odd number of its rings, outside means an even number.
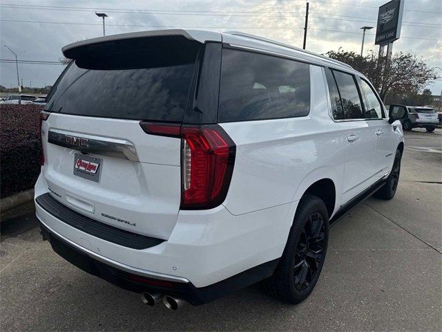
M361 50L361 26L375 26L378 6L387 0L309 0L307 49ZM158 28L242 30L302 47L305 0L0 0L0 59L13 59L8 45L23 60L57 61L61 47L102 35ZM401 39L394 52L413 53L442 67L442 0L405 0ZM375 29L367 32L365 51L374 46ZM19 64L23 85L52 85L63 66ZM442 71L439 71L442 76ZM0 84L17 85L15 65L0 62ZM442 81L430 85L439 95Z

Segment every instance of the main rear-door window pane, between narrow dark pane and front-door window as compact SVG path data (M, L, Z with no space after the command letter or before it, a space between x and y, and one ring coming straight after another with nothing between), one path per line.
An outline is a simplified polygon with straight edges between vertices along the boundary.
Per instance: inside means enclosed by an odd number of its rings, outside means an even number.
M354 76L341 71L333 71L333 73L343 102L345 118L362 119L361 99L359 98Z

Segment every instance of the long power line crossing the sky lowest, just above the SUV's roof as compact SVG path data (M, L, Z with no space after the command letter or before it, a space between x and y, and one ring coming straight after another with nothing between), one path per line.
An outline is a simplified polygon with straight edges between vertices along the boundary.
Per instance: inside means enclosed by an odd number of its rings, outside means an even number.
M0 19L0 21L10 21L10 22L19 22L19 23L39 23L39 24L73 24L73 25L84 25L84 26L101 26L101 24L97 23L79 23L79 22L50 22L50 21L26 21L26 20L15 20L15 19ZM106 26L126 26L126 27L144 27L144 28L202 28L202 29L302 29L300 26L242 26L242 27L232 27L232 26L144 26L140 24L106 24ZM332 30L332 29L320 29L320 28L309 28L309 30L318 30L318 31L329 31L334 33L352 33L355 35L361 35L361 33L356 33L352 31L344 31L344 30ZM370 36L374 36L373 34L367 34ZM441 41L442 39L434 39L434 38L423 38L423 37L408 37L401 36L401 38L409 38L409 39L423 39L423 40L434 40Z

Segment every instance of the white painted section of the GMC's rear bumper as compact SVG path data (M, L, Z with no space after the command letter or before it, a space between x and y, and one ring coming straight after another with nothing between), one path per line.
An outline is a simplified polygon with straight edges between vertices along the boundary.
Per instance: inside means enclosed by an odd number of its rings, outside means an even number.
M35 196L47 192L40 176ZM64 216L50 214L38 203L35 210L47 230L91 259L126 273L205 288L281 257L296 204L238 216L223 205L211 210L180 211L170 237L143 249L94 236L85 228L64 222ZM94 219L93 214L88 216ZM265 277L267 274L252 279ZM247 282L243 284L247 286Z

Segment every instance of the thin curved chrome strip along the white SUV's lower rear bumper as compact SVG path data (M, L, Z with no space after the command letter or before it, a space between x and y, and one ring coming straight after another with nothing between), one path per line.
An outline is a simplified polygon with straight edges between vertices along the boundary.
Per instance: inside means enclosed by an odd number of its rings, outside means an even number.
M118 268L119 270L124 270L125 272L128 272L128 273L133 273L134 275L141 275L142 277L148 277L148 278L159 279L159 280L166 280L168 282L180 282L180 283L189 282L189 280L186 278L175 277L175 275L165 275L163 273L156 273L156 272L152 272L152 271L148 271L148 270L142 270L140 268L133 268L132 266L128 266L126 264L119 263L117 261L114 261L113 259L109 259L109 258L100 256L100 255L97 255L95 252L79 246L77 243L70 241L70 239L66 239L66 237L64 237L63 235L52 230L52 228L50 228L48 225L46 225L46 223L41 221L39 216L37 216L37 219L39 219L39 221L44 225L44 227L46 227L48 230L50 230L50 232L54 233L57 237L59 237L60 239L62 239L65 242L67 242L70 246L73 246L75 249L77 249L81 252L84 252L89 257L91 257L93 259L97 259L97 261L101 261L104 264L113 266L114 268Z

